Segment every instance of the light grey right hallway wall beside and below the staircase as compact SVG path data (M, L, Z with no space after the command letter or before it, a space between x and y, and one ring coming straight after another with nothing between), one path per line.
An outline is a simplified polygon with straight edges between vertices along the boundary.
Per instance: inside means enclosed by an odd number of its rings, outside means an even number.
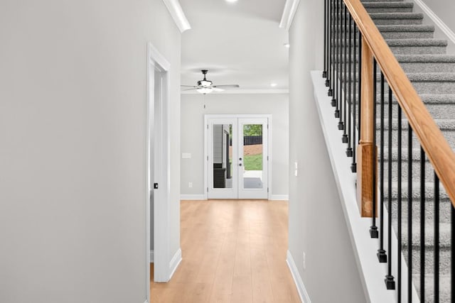
M300 1L289 32L289 165L299 163L298 177L289 175L289 252L311 302L365 302L314 103L310 71L322 70L322 39L323 1Z

